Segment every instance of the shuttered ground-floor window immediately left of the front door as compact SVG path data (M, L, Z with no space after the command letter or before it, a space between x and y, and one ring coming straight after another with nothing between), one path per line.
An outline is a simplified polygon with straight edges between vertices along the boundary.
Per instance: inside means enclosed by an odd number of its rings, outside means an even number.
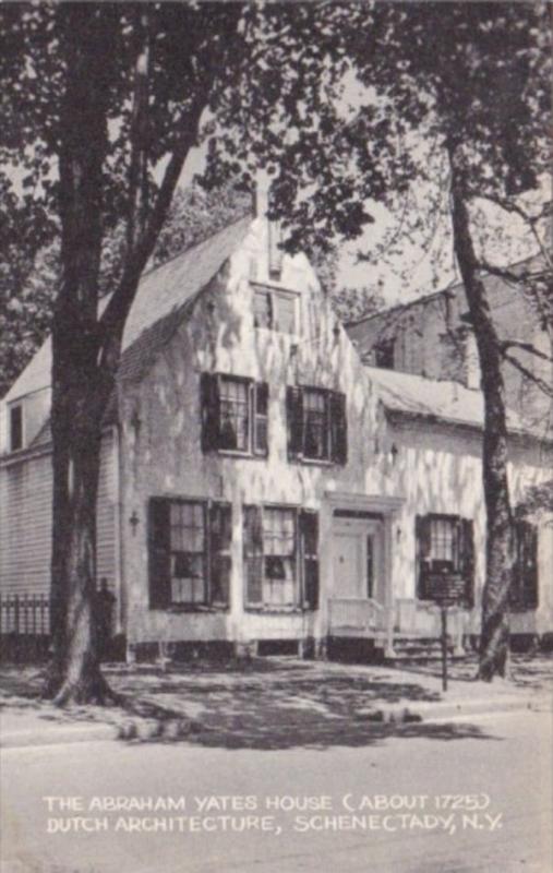
M286 506L244 506L248 607L318 606L318 519Z

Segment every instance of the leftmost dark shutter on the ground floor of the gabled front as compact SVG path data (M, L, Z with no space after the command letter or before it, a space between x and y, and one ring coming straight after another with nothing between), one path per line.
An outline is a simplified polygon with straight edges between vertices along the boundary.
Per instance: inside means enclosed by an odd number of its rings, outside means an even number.
M148 504L149 608L167 609L171 602L171 505L165 498Z

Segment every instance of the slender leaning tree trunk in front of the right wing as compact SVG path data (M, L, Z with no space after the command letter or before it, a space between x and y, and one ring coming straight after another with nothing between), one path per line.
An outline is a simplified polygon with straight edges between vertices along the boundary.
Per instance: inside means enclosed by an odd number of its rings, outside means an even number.
M491 681L508 669L508 593L513 575L513 534L507 479L507 422L500 340L470 232L464 187L452 159L454 248L480 359L484 396L482 475L486 509L486 569L482 595L479 677Z

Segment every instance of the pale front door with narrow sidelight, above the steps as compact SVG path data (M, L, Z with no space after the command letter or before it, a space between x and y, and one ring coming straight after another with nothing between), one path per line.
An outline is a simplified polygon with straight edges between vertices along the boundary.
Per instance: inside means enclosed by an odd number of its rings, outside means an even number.
M384 602L383 524L373 518L335 518L333 597Z

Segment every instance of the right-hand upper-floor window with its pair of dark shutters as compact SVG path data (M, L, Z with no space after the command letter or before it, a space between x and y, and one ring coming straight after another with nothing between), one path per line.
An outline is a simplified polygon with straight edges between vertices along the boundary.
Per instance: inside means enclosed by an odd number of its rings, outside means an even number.
M288 457L347 462L346 397L335 391L288 386Z

